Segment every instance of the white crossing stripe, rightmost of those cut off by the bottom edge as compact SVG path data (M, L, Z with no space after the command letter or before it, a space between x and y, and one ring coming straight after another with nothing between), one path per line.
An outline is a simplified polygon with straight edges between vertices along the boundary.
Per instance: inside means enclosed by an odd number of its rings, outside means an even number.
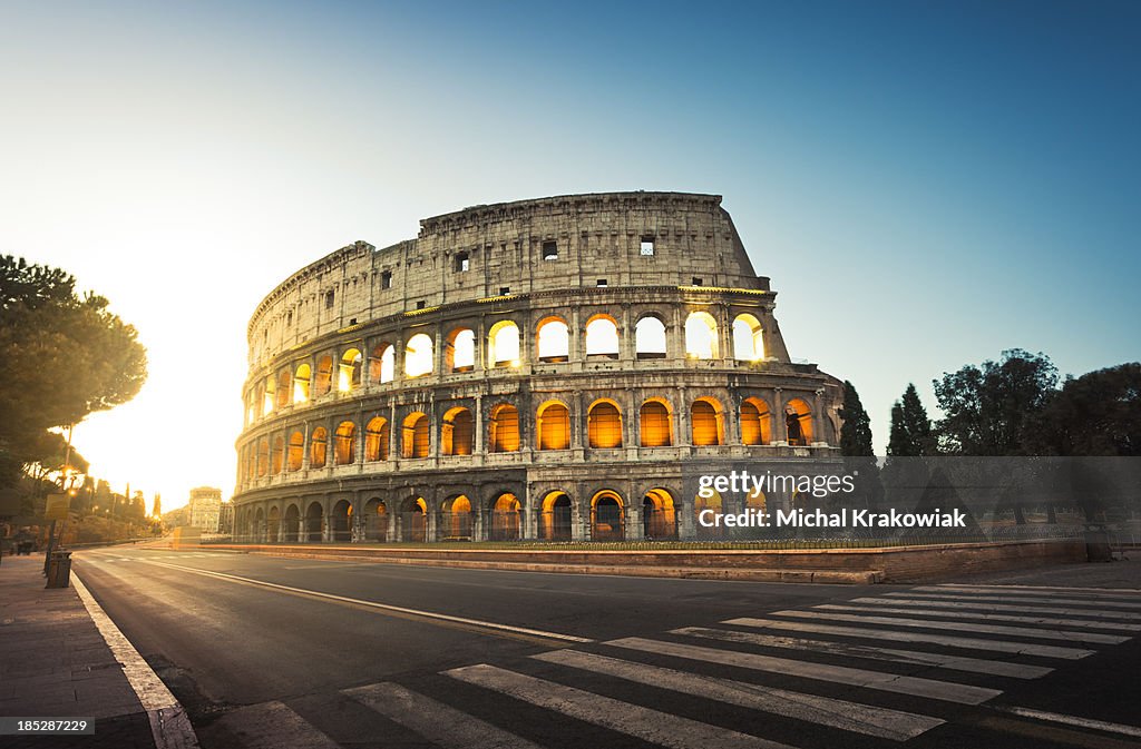
M751 736L681 716L652 710L573 686L516 674L495 666L466 666L444 671L454 679L493 690L578 720L673 749L791 749L787 744Z

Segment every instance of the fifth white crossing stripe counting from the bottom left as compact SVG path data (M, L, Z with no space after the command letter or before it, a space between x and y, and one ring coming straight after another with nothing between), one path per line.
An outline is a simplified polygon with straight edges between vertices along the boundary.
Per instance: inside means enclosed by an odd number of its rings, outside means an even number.
M658 653L661 656L673 656L675 658L688 658L690 660L723 663L726 666L736 666L738 668L750 668L759 671L771 671L782 675L815 678L823 682L848 684L850 686L863 686L883 692L898 692L900 694L926 697L932 700L957 702L960 705L981 705L982 702L1002 694L1002 690L992 690L982 686L970 686L968 684L956 684L954 682L939 682L931 678L920 678L917 676L904 676L901 674L869 671L863 668L850 668L848 666L830 666L827 663L816 663L812 661L774 658L771 656L759 656L756 653L714 650L713 648L701 648L698 645L682 645L680 643L665 642L663 640L623 637L622 640L609 640L602 644L612 645L614 648L628 648L630 650L638 650L648 653Z

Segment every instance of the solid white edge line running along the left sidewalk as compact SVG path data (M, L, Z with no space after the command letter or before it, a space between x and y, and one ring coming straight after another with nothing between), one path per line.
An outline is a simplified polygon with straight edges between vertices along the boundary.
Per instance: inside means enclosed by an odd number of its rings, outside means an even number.
M72 571L72 587L75 588L99 634L111 648L115 660L122 663L123 675L127 676L128 683L139 698L139 703L146 710L156 749L197 749L199 739L194 734L186 710L143 659L139 651L135 650L135 645L120 632L74 571Z

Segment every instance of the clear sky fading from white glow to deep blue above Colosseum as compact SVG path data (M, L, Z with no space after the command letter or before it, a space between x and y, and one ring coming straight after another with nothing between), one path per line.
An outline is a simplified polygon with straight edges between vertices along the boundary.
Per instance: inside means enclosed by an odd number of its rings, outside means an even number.
M78 439L175 506L233 488L245 323L300 266L476 203L718 193L882 449L908 382L1141 357L1139 50L1136 2L7 2L0 252L139 327L151 382Z

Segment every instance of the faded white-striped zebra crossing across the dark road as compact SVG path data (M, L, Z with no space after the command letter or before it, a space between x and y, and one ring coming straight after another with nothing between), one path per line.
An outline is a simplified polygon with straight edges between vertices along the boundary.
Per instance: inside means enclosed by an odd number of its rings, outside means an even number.
M1130 641L1141 629L1138 608L1141 591L921 586L394 678L334 699L379 731L402 732L398 746L445 749L892 746L946 731L964 710L1136 738L1135 726L998 698ZM273 740L290 746L364 738L311 708L270 702L235 713L289 726L288 741ZM560 728L543 733L536 716ZM594 732L589 741L583 731Z

